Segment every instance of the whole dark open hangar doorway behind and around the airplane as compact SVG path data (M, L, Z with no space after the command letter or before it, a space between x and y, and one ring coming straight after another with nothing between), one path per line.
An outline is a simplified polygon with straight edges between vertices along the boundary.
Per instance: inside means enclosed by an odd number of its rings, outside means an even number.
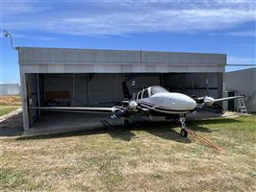
M208 80L209 94L222 94L221 73L148 73L148 74L26 74L29 107L113 107L123 99L122 82L136 92L150 85L162 85L172 92L189 96L205 96ZM100 127L110 114L49 112L29 109L32 129Z

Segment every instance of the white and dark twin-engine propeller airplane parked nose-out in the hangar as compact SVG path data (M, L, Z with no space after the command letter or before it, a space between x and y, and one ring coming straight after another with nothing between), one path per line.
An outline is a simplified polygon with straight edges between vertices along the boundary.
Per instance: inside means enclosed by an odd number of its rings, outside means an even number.
M153 116L165 116L166 119L176 119L181 124L180 135L188 137L186 130L186 114L195 112L205 106L212 106L215 103L233 100L245 97L245 95L225 97L214 99L205 96L192 99L192 97L176 92L169 92L160 85L149 86L143 88L137 94L135 93L135 81L132 83L132 95L129 92L127 84L122 83L124 100L119 102L112 108L85 108L85 107L42 107L29 109L44 109L51 111L70 111L70 112L100 112L112 113L113 119L123 117L124 124L129 123L129 117L135 114L143 114L152 119ZM196 102L197 103L196 103ZM198 104L199 103L199 104Z

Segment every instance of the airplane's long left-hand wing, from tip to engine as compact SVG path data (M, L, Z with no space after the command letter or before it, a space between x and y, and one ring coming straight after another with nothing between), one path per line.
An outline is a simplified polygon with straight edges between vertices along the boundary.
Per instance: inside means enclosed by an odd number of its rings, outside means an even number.
M63 111L63 112L97 112L97 113L113 113L115 108L84 108L84 107L32 107L29 109L41 109L50 111Z

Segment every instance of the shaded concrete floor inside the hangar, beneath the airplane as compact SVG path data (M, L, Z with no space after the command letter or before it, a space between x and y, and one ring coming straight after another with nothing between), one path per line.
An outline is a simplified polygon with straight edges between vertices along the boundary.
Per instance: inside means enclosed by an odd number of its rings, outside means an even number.
M187 121L195 119L205 119L221 116L221 113L202 111L197 114L187 115ZM112 119L110 114L90 114L90 113L70 113L70 112L45 112L34 123L30 131L25 134L40 134L40 133L57 133L57 132L78 132L78 131L91 131L102 129L115 129L123 125L120 119ZM145 123L147 126L149 122L145 116L132 117L131 122L137 122L136 124ZM169 121L164 117L154 117L150 120L150 124L153 122Z

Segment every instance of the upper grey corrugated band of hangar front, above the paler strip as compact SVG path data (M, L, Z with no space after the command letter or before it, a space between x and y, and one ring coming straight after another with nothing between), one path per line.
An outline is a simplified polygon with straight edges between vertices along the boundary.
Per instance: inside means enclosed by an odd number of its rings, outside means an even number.
M220 64L226 63L224 54L90 50L90 49L54 49L19 47L19 63L30 64L87 64L87 63L167 63L177 64Z

